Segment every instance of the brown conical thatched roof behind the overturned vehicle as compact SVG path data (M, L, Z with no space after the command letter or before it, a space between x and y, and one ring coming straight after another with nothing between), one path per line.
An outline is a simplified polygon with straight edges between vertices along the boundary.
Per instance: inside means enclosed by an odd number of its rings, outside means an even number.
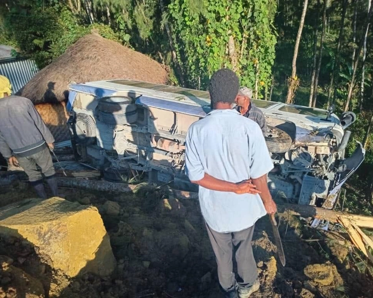
M80 38L36 73L18 95L34 104L61 102L68 98L69 83L112 79L165 84L168 73L148 56L93 33Z

